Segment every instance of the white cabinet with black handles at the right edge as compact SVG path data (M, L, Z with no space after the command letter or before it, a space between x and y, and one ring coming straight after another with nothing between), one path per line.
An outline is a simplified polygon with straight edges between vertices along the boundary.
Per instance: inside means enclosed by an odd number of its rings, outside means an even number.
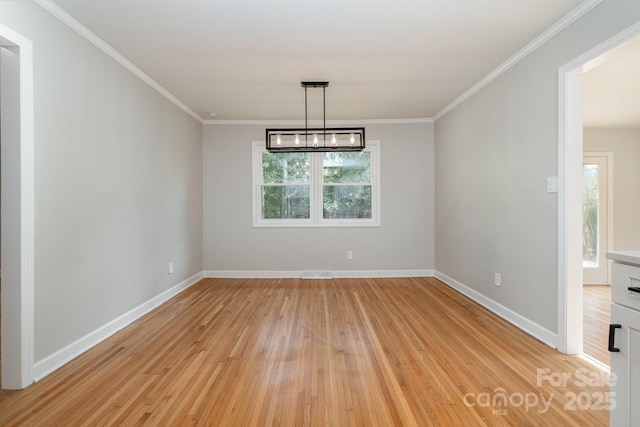
M637 255L637 256L636 256ZM640 252L610 252L611 422L640 426Z

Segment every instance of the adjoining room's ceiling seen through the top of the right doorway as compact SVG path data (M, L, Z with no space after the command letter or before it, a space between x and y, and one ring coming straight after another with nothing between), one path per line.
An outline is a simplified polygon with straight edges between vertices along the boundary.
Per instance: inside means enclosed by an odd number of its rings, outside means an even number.
M585 127L640 128L640 37L606 53L585 70Z

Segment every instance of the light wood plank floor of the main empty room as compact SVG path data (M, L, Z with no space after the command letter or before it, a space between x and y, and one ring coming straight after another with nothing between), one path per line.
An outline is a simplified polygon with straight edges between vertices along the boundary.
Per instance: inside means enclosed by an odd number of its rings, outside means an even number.
M608 425L578 369L431 278L207 279L1 392L0 425Z

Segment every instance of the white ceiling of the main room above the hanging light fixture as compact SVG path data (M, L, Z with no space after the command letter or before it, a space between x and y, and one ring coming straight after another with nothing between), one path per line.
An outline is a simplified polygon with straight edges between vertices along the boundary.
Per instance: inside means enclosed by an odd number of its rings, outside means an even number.
M302 119L300 82L326 80L349 120L433 117L583 1L55 3L203 118Z

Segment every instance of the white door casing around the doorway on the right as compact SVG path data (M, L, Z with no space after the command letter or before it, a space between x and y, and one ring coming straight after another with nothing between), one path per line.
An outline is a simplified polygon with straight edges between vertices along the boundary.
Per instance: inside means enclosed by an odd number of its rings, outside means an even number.
M637 22L558 69L558 350L563 353L582 353L582 311L570 297L570 294L582 295L577 290L581 285L581 277L572 277L572 269L577 268L574 264L579 265L580 274L582 273L582 241L579 244L574 242L576 239L569 231L571 225L577 222L576 217L581 218L582 215L582 189L572 183L579 173L572 161L579 155L582 164L582 140L580 139L580 147L570 144L571 132L581 131L582 126L581 120L578 124L575 119L571 119L571 116L580 116L579 111L574 111L581 108L582 104L581 93L576 93L582 90L580 70L639 34L640 22ZM580 105L577 105L578 102ZM571 193L576 191L579 196L571 198Z

